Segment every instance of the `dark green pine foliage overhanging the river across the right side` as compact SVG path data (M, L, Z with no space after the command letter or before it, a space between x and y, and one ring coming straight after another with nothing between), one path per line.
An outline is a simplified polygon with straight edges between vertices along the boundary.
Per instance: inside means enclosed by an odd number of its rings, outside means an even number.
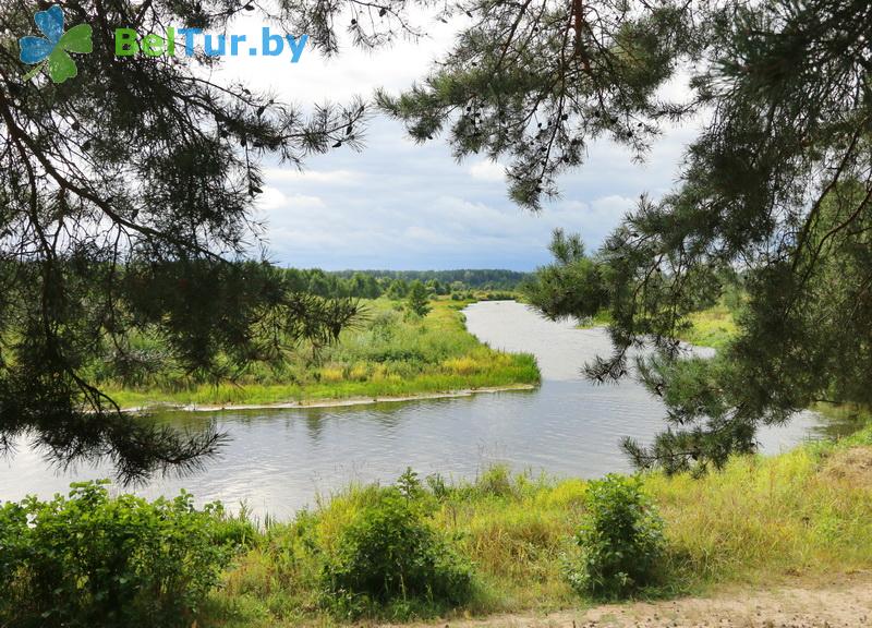
M458 158L508 162L524 207L556 195L593 142L643 158L667 120L712 113L674 192L643 195L592 259L556 239L557 264L529 287L549 316L608 307L614 351L585 365L594 382L630 376L645 346L653 389L716 385L715 416L682 413L706 406L708 388L676 395L676 437L643 452L652 464L702 470L814 401L872 403L869 2L468 0L456 11L474 20L426 78L378 104L415 141L443 135ZM685 75L686 97L664 101ZM724 303L741 310L736 334L717 325L700 338L719 345L711 370L724 381L671 381L693 314Z

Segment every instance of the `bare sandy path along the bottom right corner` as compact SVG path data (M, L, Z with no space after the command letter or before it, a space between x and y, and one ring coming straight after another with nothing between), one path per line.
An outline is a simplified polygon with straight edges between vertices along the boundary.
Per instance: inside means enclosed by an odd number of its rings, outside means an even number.
M425 626L425 625L421 625ZM506 615L431 624L438 628L864 628L872 627L872 573L767 591L609 604L549 615Z

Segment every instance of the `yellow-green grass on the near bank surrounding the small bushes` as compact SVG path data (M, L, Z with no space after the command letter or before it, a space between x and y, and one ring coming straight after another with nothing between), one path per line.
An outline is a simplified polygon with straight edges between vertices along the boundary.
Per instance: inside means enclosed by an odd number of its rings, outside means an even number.
M725 584L777 584L872 568L872 424L839 442L816 442L773 457L735 457L702 479L643 475L665 520L658 583L642 597L703 593ZM594 601L567 583L572 535L588 482L494 468L475 481L429 478L413 499L427 526L473 566L473 594L448 618L546 612ZM379 488L350 486L290 522L267 522L255 547L225 575L208 604L209 625L343 623L325 611L320 575L341 553L343 530ZM391 620L421 609L389 606ZM424 609L426 615L426 608Z

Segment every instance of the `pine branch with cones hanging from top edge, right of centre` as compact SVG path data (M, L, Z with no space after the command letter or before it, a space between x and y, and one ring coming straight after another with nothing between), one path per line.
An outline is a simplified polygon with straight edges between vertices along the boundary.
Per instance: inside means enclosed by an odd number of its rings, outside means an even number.
M685 3L467 0L447 12L475 20L426 77L400 96L379 92L378 105L417 142L443 134L458 158L508 161L524 207L555 195L595 140L641 156L659 121L686 113L658 89L697 52Z

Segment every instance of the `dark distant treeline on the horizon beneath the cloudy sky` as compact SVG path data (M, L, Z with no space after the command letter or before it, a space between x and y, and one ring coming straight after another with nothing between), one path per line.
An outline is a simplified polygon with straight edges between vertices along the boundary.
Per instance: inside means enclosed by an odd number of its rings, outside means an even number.
M528 273L500 269L460 270L338 270L286 268L293 289L320 297L363 299L404 299L409 286L421 281L433 294L461 294L471 291L511 291L529 277Z

